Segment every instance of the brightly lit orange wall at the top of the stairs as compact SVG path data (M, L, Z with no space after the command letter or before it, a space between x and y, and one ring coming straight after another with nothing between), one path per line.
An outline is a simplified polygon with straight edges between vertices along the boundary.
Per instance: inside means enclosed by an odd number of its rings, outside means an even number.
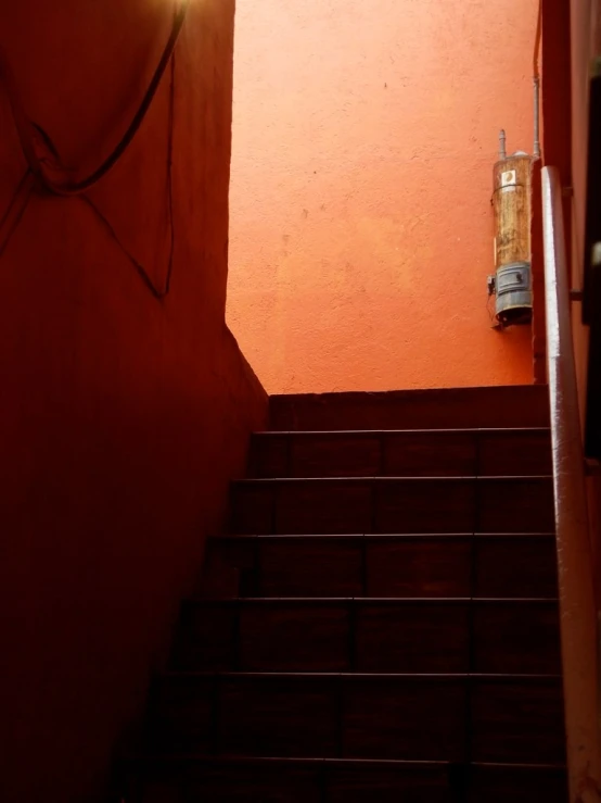
M537 5L238 0L228 319L269 392L532 381L486 276Z

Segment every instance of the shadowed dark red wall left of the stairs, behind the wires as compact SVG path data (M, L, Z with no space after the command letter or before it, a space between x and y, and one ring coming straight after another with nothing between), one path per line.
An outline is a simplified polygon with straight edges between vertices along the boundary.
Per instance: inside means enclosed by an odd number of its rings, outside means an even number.
M0 47L74 177L116 142L170 28L158 0L20 0ZM156 301L91 209L33 197L0 259L0 800L102 799L266 396L225 325L233 0L177 49L175 264ZM90 193L161 284L168 80ZM0 216L24 171L0 95Z

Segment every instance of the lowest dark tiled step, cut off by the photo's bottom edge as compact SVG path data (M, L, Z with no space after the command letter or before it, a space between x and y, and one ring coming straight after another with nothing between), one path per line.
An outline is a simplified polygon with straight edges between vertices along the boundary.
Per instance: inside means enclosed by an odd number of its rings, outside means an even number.
M555 765L453 766L398 761L146 760L127 803L566 803Z

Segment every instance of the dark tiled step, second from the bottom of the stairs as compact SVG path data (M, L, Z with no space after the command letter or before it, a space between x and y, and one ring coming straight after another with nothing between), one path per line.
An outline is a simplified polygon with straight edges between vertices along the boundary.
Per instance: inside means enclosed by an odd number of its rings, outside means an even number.
M171 674L158 752L562 763L557 676Z

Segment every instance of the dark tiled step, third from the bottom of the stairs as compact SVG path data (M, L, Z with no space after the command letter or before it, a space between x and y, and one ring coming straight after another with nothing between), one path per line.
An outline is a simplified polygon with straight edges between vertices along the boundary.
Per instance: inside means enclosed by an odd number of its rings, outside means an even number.
M182 670L561 672L554 600L259 599L186 605Z

